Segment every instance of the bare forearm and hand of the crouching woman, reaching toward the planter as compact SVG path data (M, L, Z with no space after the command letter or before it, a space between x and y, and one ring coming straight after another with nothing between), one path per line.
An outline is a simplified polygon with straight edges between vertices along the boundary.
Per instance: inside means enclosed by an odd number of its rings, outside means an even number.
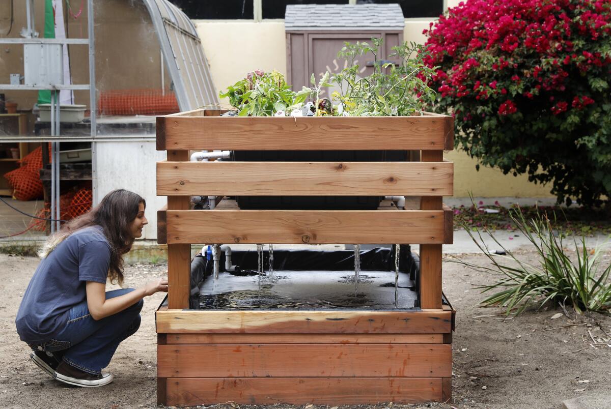
M147 295L153 295L158 291L167 291L167 278L159 278L144 287L108 300L106 299L106 284L104 283L87 281L86 291L89 314L97 321L123 311L123 309L134 305Z

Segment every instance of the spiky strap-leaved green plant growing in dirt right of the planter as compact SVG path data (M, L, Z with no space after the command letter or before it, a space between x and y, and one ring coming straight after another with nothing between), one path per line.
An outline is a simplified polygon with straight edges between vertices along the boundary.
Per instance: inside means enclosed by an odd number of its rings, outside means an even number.
M521 261L489 236L503 249L507 256L492 255L483 241L481 232L467 230L469 235L488 257L491 267L466 264L483 272L501 273L504 277L495 283L480 286L482 292L494 292L483 300L484 305L499 305L507 313L517 309L524 311L527 306L547 302L572 306L577 313L584 311L611 312L611 265L601 268L601 247L588 251L585 238L573 239L574 259L565 253L562 235L556 236L551 220L537 214L526 220L519 208L510 209L510 216L518 231L528 239L538 255L538 264ZM488 232L486 230L486 232Z

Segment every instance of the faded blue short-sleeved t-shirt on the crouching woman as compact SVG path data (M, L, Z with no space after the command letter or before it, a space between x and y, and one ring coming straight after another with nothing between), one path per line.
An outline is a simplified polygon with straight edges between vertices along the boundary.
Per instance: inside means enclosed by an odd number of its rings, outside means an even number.
M70 308L87 299L86 281L106 283L111 247L101 226L70 234L42 259L15 320L21 341L46 342L68 322Z

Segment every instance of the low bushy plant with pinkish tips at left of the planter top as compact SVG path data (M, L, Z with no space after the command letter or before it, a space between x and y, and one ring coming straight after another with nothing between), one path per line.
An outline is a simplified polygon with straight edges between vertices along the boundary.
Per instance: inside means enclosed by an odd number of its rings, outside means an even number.
M271 117L279 110L301 108L311 93L312 90L307 87L294 92L284 75L278 71L265 73L256 70L219 95L221 98L229 98L229 103L238 110L241 117Z

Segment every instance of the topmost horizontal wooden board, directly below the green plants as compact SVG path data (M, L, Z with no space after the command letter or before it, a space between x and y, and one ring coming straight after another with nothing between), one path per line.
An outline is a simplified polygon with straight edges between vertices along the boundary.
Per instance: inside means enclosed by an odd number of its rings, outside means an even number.
M445 117L166 117L166 149L440 150Z

